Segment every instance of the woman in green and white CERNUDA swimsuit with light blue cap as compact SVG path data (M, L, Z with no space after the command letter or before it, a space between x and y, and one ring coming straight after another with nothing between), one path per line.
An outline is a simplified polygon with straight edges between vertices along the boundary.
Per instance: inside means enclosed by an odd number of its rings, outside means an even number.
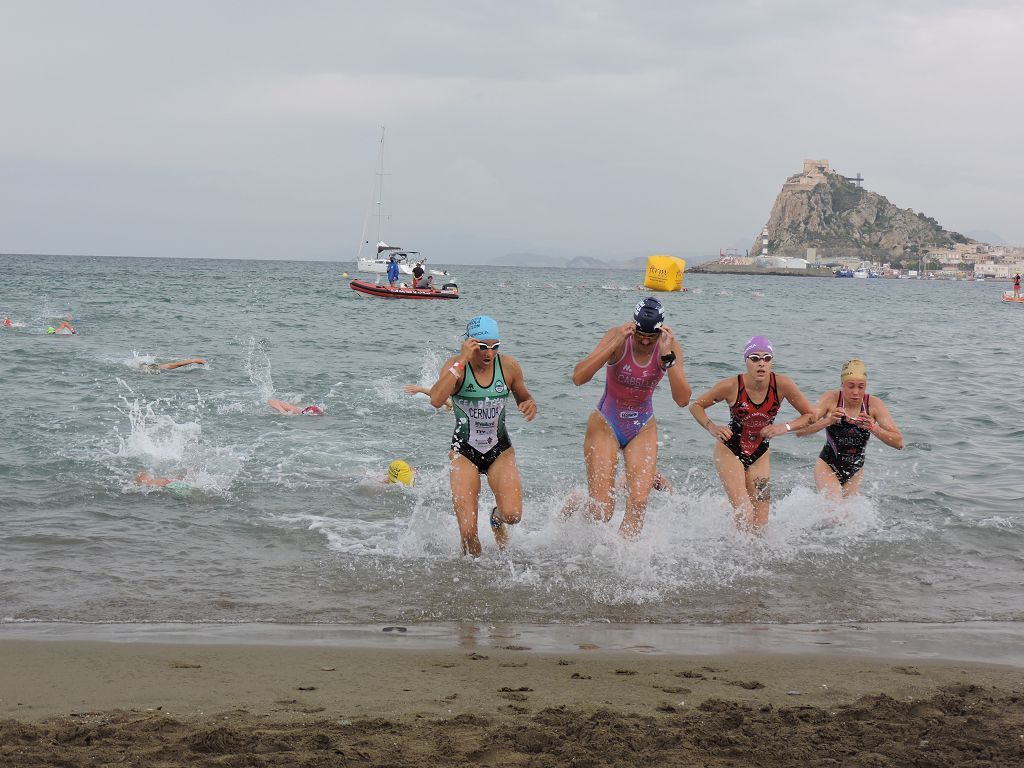
M522 478L505 428L506 402L510 394L515 397L527 422L537 416L537 403L518 360L498 352L502 342L497 321L482 314L473 317L464 338L459 354L441 366L430 388L430 404L441 408L449 398L455 404L449 453L452 504L463 553L479 557L480 475L486 475L498 505L490 511L490 530L500 549L508 544L509 526L522 519Z

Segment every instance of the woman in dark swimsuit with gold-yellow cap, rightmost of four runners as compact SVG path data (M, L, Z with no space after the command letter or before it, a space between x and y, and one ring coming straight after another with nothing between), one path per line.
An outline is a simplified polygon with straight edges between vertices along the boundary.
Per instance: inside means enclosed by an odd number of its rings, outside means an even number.
M864 475L864 449L871 435L894 447L903 447L903 433L877 396L867 394L867 369L856 357L840 372L840 388L821 395L817 421L797 430L805 437L825 430L825 444L814 464L818 492L831 499L855 496Z

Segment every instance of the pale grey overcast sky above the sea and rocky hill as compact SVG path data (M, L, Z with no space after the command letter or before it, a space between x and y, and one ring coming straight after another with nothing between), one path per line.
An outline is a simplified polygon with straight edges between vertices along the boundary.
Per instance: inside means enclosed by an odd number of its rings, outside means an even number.
M1022 40L1017 0L0 0L0 253L700 260L804 158L1024 245Z

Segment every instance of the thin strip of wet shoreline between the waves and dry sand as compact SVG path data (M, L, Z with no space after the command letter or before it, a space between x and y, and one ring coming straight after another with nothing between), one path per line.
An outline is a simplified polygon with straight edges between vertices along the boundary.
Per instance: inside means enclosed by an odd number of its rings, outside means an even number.
M580 649L651 655L843 653L864 658L934 659L1024 669L1024 622L786 625L0 623L0 643L8 640L420 651L486 651L512 643L523 650L547 653Z

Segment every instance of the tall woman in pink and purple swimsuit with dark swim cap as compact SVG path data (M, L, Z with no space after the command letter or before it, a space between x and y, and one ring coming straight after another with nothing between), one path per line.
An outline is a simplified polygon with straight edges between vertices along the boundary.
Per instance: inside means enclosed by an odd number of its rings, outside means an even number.
M657 423L652 397L668 376L672 399L680 408L691 389L683 370L683 349L665 325L665 309L653 297L640 301L633 319L609 330L594 351L572 371L572 383L582 386L604 369L604 394L587 421L583 454L587 464L587 512L607 522L614 512L615 466L626 465L628 498L618 526L625 539L636 539L643 528L647 497L657 474ZM563 515L571 515L569 499Z

